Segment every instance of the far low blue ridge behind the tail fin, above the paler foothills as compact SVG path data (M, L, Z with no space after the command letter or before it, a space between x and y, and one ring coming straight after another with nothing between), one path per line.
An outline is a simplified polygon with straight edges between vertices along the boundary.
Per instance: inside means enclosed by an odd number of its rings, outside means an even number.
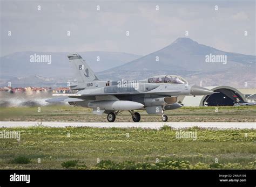
M129 53L116 52L78 52L94 71L103 71L109 68L120 66L126 62L141 57ZM51 55L51 63L30 62L30 56ZM70 68L66 55L70 53L52 52L17 52L0 58L0 73L3 77L72 77L73 71ZM99 61L97 61L99 56Z

